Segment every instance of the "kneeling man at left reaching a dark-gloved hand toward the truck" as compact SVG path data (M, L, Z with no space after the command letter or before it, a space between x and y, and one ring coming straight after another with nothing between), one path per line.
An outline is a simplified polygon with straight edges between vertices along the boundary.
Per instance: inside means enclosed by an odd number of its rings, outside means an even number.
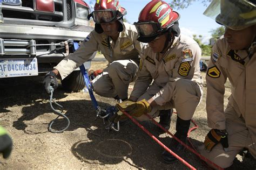
M96 1L95 11L89 15L96 23L95 30L74 53L60 61L53 72L46 74L46 91L50 85L57 88L56 75L64 79L95 51L101 51L109 64L102 74L93 79L93 90L100 96L126 100L129 83L137 77L142 43L137 41L134 25L123 23L125 13L118 0Z

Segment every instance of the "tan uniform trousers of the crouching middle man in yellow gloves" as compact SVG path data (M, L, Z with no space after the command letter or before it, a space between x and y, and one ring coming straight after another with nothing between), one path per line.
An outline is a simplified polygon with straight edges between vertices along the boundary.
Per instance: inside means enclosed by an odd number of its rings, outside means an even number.
M137 101L143 100L144 98L146 100L149 100L151 97L154 96L150 94L150 91L146 91L146 93L140 96ZM200 87L198 83L188 79L179 79L176 82L176 88L173 91L171 101L167 102L165 105L157 105L156 107L153 107L151 112L149 112L148 114L153 118L156 118L157 116L159 116L159 110L175 108L177 111L177 116L179 116L183 120L190 120L193 117L194 111L196 110L198 104L201 101L201 96L203 96L202 94L203 87ZM143 115L138 117L137 119L139 121L146 121L149 118Z

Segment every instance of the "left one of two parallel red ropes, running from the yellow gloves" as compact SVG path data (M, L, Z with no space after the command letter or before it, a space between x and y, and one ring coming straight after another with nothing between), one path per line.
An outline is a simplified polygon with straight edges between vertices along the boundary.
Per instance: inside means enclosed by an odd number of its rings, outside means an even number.
M192 165L188 164L188 162L186 162L184 159L180 158L179 155L177 155L176 153L174 153L172 150L170 150L167 146L165 146L163 143L161 143L160 140L158 140L155 136L153 136L152 133L150 133L147 129L144 128L143 125L141 125L136 119L134 119L132 116L130 116L127 112L121 110L127 117L129 117L136 125L139 126L140 129L142 129L144 132L146 132L147 134L149 134L149 136L154 139L161 147L163 147L167 152L171 153L175 158L177 158L179 161L181 161L184 165L186 165L188 168L190 169L196 169L194 168ZM147 115L147 114L146 114ZM151 116L147 115L148 117L152 118ZM152 118L153 119L153 118ZM153 119L154 121L154 119ZM156 122L157 123L157 122ZM160 128L163 129L163 127L160 125ZM170 132L169 132L170 133ZM172 134L171 134L172 136Z

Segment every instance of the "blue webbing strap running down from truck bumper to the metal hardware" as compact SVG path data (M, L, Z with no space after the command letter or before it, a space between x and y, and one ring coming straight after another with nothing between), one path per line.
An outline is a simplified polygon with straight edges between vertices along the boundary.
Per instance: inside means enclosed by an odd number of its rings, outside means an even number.
M77 42L74 42L74 48L75 50L79 47L78 43ZM90 94L90 97L91 97L91 100L92 100L92 104L93 104L93 107L96 109L96 111L98 110L99 108L99 105L98 105L98 102L96 101L96 98L95 96L93 95L93 91L92 91L92 86L91 86L91 82L90 82L90 79L89 79L89 76L88 76L88 73L86 72L86 69L84 67L84 65L81 65L80 67L80 71L84 77L84 81L85 81L85 85L89 91L89 94Z

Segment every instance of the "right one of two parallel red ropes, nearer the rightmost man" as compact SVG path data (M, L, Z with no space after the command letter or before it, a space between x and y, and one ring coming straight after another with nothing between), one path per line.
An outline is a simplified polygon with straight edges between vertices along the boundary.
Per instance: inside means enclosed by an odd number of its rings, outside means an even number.
M127 113L126 113L127 114ZM154 124L156 124L157 126L159 126L159 128L163 129L166 133L170 134L175 140L177 140L181 145L183 145L184 147L186 147L188 150L190 150L191 152L193 152L194 154L196 154L201 160L207 162L208 164L214 166L217 169L221 169L224 170L223 168L221 168L220 166L218 166L217 164L214 164L214 162L208 160L207 158L205 158L203 155L200 155L196 150L194 150L193 148L187 146L183 141L179 140L176 136L174 136L171 132L169 132L168 130L166 130L165 128L163 128L163 126L161 126L158 122L156 122L150 115L145 114L147 117L149 117L151 119L152 122L154 122ZM127 115L126 115L127 116ZM129 115L130 116L130 115ZM196 122L192 121L192 123L194 125L196 125L196 127L191 128L188 132L190 133L192 130L197 129L198 125L196 124ZM189 135L189 133L187 133ZM192 143L191 143L192 144ZM192 145L193 146L193 145ZM182 161L181 161L182 162Z

